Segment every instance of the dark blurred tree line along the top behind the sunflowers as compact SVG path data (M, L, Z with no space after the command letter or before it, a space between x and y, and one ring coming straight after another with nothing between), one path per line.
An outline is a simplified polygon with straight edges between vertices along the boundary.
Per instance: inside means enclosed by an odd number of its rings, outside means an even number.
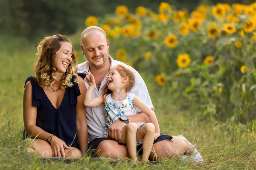
M72 34L85 27L89 15L113 13L125 5L131 12L144 6L158 12L160 2L192 11L199 4L250 4L254 0L0 0L0 35L11 34L35 40L48 34Z

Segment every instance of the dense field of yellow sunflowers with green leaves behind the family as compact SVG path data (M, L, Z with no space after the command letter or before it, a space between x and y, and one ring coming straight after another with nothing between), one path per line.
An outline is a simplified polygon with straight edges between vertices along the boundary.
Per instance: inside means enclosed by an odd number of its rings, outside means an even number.
M117 6L115 14L87 17L85 26L103 28L110 55L154 79L169 102L182 101L204 118L256 118L256 3L190 13L165 2L158 12Z

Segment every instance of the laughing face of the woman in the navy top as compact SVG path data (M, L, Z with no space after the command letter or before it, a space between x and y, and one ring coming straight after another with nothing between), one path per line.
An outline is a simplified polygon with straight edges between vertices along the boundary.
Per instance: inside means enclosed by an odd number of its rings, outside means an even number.
M53 59L53 66L59 73L65 73L67 67L72 62L72 45L70 42L61 42L61 48L56 51Z

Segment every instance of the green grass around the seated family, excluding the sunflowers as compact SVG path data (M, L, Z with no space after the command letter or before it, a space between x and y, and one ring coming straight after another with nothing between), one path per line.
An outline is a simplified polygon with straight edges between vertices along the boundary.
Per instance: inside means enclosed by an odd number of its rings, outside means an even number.
M87 157L67 164L66 161L45 162L23 149L18 152L19 145L26 145L21 140L23 86L25 79L32 75L36 44L1 36L0 47L0 169L256 169L256 125L248 129L239 123L239 111L226 122L220 122L202 116L202 111L183 109L182 101L172 101L171 94L156 86L154 79L143 73L161 131L186 136L201 152L206 161L204 164L173 158L160 159L156 164L134 165L110 159L89 162ZM79 58L79 62L83 60Z

